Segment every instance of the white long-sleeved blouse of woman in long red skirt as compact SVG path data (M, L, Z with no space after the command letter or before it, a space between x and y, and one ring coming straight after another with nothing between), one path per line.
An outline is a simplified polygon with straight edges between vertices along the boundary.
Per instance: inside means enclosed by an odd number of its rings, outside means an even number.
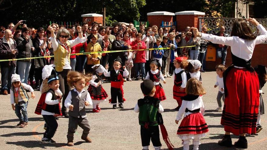
M248 61L252 58L255 45L267 40L266 29L262 25L258 25L257 28L262 33L262 35L257 36L254 40L246 40L237 36L223 37L205 33L202 33L201 38L215 44L224 44L231 46L231 52L233 53L233 55L238 58L242 58L245 61Z

